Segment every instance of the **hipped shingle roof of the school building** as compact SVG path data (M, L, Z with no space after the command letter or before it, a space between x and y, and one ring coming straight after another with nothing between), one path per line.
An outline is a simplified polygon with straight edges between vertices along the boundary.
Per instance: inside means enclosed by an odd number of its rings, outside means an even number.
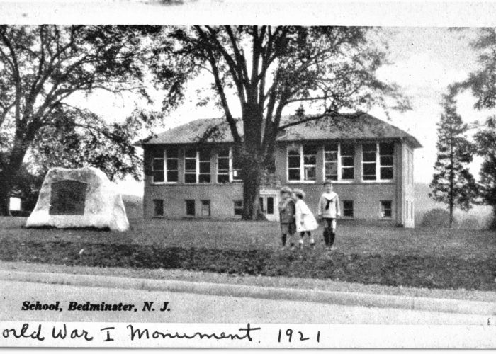
M284 120L291 122L291 117L286 117ZM240 133L242 132L241 124L241 121L237 120ZM414 148L422 147L415 137L404 130L367 113L333 115L322 118L317 123L293 125L280 132L277 137L278 142L329 139L405 139ZM225 118L193 120L161 134L153 135L140 144L191 144L194 142L233 142Z

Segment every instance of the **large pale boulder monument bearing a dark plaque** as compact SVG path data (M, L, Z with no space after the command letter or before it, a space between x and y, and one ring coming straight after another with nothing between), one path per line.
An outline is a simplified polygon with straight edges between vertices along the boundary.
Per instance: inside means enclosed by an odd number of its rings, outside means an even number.
M48 171L26 227L129 229L123 198L94 167Z

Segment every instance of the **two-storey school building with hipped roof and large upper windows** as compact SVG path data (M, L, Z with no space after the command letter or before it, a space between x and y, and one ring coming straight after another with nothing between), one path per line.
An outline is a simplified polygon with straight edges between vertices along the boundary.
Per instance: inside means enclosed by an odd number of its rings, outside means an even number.
M208 139L202 139L205 132ZM141 146L145 218L239 217L240 166L224 119L195 120ZM322 182L332 180L342 219L413 227L413 154L419 147L412 135L366 113L288 127L276 140L275 173L261 185L262 210L277 221L278 189L288 185L305 191L316 214Z

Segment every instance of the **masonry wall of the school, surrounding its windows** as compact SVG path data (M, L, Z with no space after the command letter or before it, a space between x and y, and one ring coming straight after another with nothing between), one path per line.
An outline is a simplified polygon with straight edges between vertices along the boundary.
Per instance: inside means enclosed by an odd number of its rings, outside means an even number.
M317 150L317 175L315 182L287 181L286 144L276 147L276 176L282 185L301 188L307 194L306 202L317 215L317 203L323 192L323 152ZM393 181L362 181L361 142L356 142L354 159L354 181L335 181L334 191L339 195L341 207L344 200L352 200L354 220L398 224L413 227L413 149L403 142L395 142ZM181 154L180 154L181 157ZM215 152L210 159L212 181L216 181ZM164 200L164 217L186 217L185 200L195 200L196 216L201 215L201 200L210 200L210 213L213 218L233 218L234 201L242 200L242 183L198 183L184 184L184 161L179 159L179 183L152 184L150 152L145 149L145 197L144 215L154 217L154 201ZM275 190L270 193L276 193ZM392 217L381 217L381 200L391 200Z

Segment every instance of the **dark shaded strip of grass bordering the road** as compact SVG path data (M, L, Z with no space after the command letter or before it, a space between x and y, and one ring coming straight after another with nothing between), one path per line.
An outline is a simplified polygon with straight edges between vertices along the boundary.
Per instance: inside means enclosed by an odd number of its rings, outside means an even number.
M236 275L319 278L363 284L438 289L496 290L496 259L400 254L344 254L326 251L271 251L14 241L0 248L2 261L93 267L200 270Z

